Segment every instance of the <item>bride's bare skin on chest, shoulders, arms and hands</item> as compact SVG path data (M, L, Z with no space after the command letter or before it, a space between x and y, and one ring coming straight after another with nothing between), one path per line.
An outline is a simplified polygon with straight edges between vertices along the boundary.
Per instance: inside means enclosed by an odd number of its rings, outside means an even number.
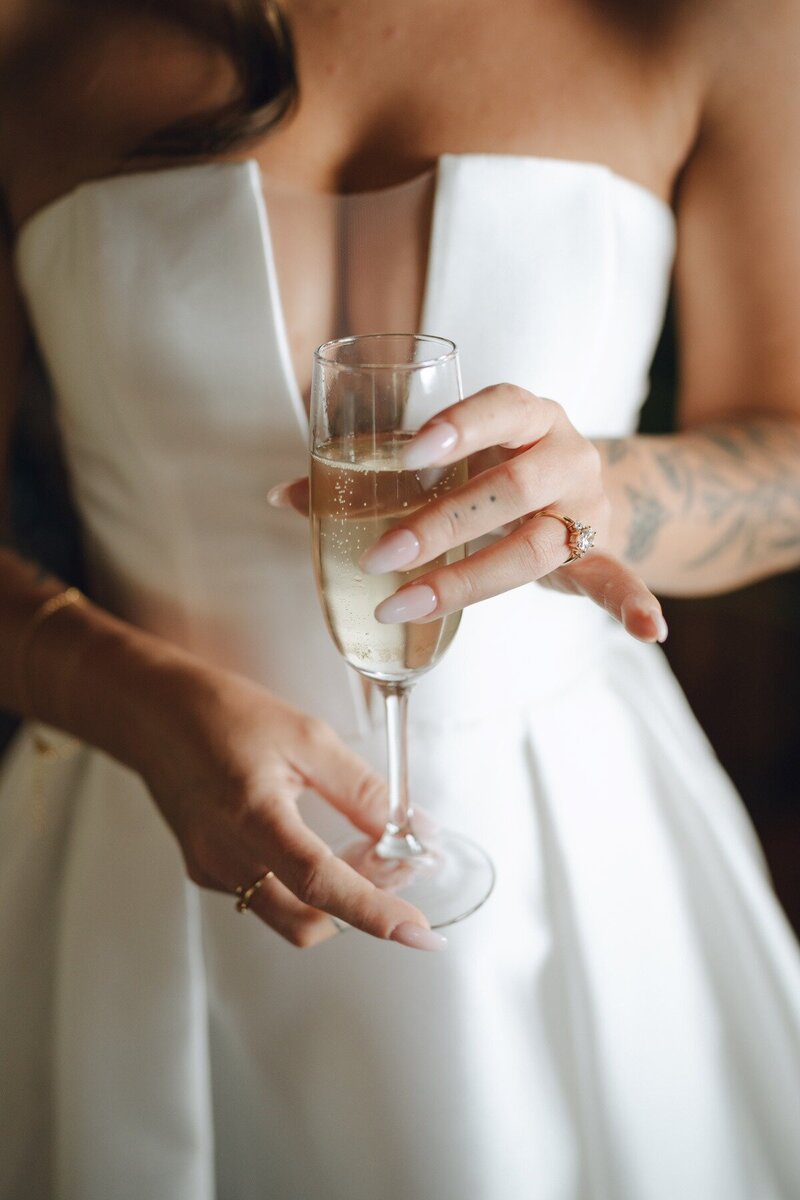
M663 628L650 588L702 594L800 560L800 8L714 0L654 4L643 17L642 7L509 0L498 16L486 0L402 10L301 0L291 7L300 109L234 155L326 191L385 186L445 151L575 158L674 203L680 432L595 446L558 397L501 383L439 414L456 440L437 461L473 456L471 480L405 524L416 562L488 529L512 532L415 581L432 589L432 616L540 580L655 641ZM143 138L235 86L222 55L140 13L109 22L101 8L76 22L58 4L34 2L10 6L2 22L0 187L11 236L82 180L142 169L131 151ZM6 254L4 436L25 336ZM305 496L295 481L275 499L302 508ZM591 522L600 548L561 569L564 527L531 518L545 508ZM12 552L0 557L0 661L13 664L32 613L60 584L38 581ZM313 718L94 606L43 623L23 666L24 689L20 672L5 668L0 703L138 770L198 883L233 893L273 869L253 910L295 944L332 932L318 910L379 937L425 926L301 824L303 786L369 833L385 803L380 780Z

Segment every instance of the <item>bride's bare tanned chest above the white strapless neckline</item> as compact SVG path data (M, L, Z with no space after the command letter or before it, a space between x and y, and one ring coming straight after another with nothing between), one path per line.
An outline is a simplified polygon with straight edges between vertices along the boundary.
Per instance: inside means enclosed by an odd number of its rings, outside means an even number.
M669 22L591 0L300 0L291 18L301 100L259 150L275 174L360 191L493 151L600 160L670 194L696 90Z

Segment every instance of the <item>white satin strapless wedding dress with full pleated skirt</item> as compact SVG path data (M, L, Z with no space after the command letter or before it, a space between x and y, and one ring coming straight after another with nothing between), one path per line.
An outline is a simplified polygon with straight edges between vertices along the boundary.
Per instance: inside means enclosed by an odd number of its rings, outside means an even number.
M465 392L634 430L668 206L506 155L445 156L431 188L420 326ZM205 164L79 187L17 262L92 595L380 764L307 527L266 500L307 455L277 240L257 166ZM440 955L290 948L187 882L133 774L32 739L0 786L2 1200L800 1196L795 942L661 650L588 601L469 610L415 690L414 792L498 870Z

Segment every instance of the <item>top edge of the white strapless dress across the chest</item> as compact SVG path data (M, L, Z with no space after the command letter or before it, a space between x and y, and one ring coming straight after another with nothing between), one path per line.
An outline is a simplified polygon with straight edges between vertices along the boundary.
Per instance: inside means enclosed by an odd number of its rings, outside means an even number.
M55 199L48 200L47 204L43 204L30 216L25 217L25 220L19 226L17 235L14 238L14 253L16 254L20 253L23 244L28 241L30 235L36 230L36 228L38 228L41 223L43 223L44 221L47 221L62 209L68 208L68 205L73 203L78 196L83 196L91 191L97 191L102 188L120 187L126 182L132 182L136 180L140 181L143 179L154 179L156 176L164 176L164 179L175 179L181 175L191 176L193 173L197 173L199 175L205 172L219 172L219 170L246 170L246 172L257 170L261 180L264 181L265 187L276 188L285 193L294 193L296 196L320 196L320 197L327 196L330 198L336 198L337 196L341 196L341 197L347 197L349 199L359 199L359 198L367 198L369 196L377 196L377 197L387 196L391 192L396 192L402 188L413 187L416 184L421 184L423 179L433 178L437 174L441 163L446 160L469 161L480 158L485 158L489 162L493 160L497 162L518 161L523 163L531 163L534 166L551 167L554 169L588 170L597 173L599 175L614 180L621 187L630 188L633 193L638 193L646 202L649 202L654 206L654 209L660 210L662 215L666 216L673 224L675 223L675 214L672 206L667 203L667 200L663 199L663 197L658 196L657 192L655 192L652 188L648 187L644 184L639 184L637 180L631 179L627 175L621 175L619 172L614 170L612 167L608 167L606 163L595 162L591 160L554 158L554 157L548 157L547 155L497 154L493 151L441 154L437 157L437 160L431 167L426 168L422 172L419 172L416 175L413 175L409 179L401 180L397 184L390 184L386 187L368 188L366 191L337 193L337 192L325 192L325 191L319 191L317 188L305 187L301 184L295 184L291 180L283 179L279 175L272 175L269 172L265 172L260 166L260 163L258 162L258 160L251 156L248 158L221 160L221 161L211 161L201 163L182 163L176 167L162 167L151 170L130 172L122 175L103 175L98 179L84 180L84 182L78 184L76 187L70 188L70 191L65 192L62 196L58 196Z

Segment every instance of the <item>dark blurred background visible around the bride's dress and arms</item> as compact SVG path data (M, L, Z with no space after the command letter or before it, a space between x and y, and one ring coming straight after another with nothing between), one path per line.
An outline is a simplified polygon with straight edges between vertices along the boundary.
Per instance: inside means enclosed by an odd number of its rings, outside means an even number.
M673 427L678 371L668 314L642 414L646 432ZM17 540L80 584L78 533L47 384L35 362L25 390L13 450ZM663 607L673 670L744 798L778 896L800 934L800 572L726 596L666 600ZM13 727L0 714L0 748Z

